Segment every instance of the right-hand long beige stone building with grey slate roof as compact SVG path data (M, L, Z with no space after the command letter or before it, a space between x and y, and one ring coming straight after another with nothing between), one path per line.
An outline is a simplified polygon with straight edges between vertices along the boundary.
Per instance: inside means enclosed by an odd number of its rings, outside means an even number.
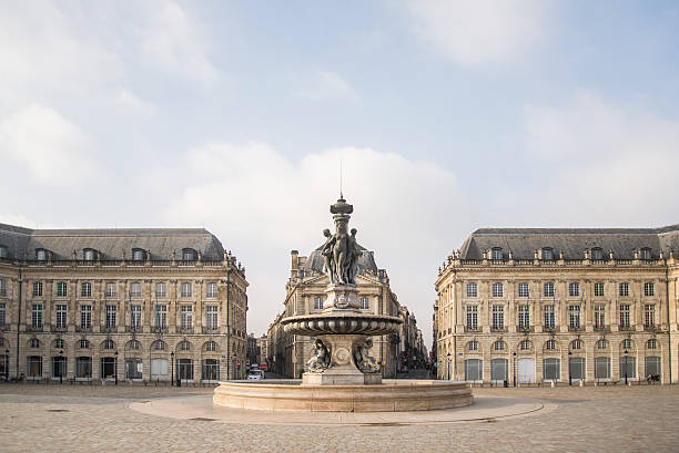
M679 225L478 229L436 280L440 379L677 381Z

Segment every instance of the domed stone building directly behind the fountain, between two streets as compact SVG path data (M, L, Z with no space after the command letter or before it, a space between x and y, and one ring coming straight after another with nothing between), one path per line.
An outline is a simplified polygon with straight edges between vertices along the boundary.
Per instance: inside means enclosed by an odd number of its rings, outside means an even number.
M288 378L301 378L306 361L312 356L312 338L286 333L281 320L291 316L321 312L325 301L325 290L330 278L323 271L323 247L315 249L308 257L291 253L291 276L285 286L285 310L270 326L268 362L273 371ZM361 310L374 315L398 316L399 305L389 288L386 270L378 269L372 251L359 246L363 251L357 259L358 301ZM394 378L397 368L398 337L373 337L371 354L382 364L383 375Z

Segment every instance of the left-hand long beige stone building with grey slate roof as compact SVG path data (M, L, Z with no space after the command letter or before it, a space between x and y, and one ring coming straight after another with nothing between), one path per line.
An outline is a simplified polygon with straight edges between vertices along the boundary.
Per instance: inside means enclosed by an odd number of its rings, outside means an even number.
M243 377L246 289L245 269L205 229L0 224L0 375Z

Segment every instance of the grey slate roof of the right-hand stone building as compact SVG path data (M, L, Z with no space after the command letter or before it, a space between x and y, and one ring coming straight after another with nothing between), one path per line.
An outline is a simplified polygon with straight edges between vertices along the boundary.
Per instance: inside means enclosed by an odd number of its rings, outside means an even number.
M679 225L660 228L479 228L472 233L460 248L462 259L483 259L483 253L494 247L503 249L507 259L533 259L535 250L550 247L555 258L564 251L565 259L582 259L585 250L601 248L608 259L610 250L616 259L632 259L634 251L649 248L651 258L667 257L670 249L679 250Z

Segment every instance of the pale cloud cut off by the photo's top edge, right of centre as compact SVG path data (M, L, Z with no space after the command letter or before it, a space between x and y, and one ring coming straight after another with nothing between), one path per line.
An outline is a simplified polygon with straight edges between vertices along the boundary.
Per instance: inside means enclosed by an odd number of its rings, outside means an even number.
M457 63L510 61L545 38L548 2L541 0L407 0L411 30Z

